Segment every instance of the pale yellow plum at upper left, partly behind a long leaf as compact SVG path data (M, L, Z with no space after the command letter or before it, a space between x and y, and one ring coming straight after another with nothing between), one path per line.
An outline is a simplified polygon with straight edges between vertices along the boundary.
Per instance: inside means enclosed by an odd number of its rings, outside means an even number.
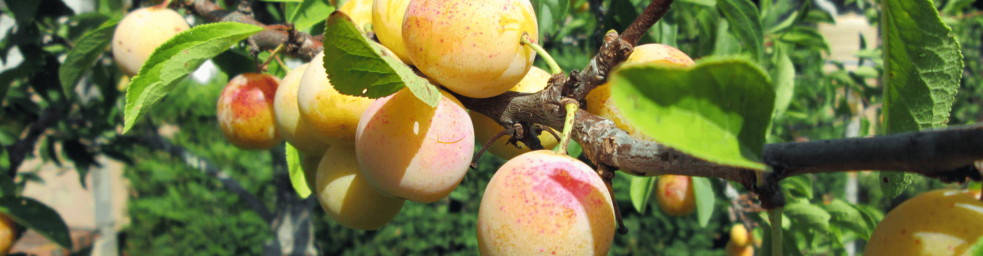
M113 60L128 77L136 76L153 50L179 32L190 30L174 10L145 7L127 14L113 32Z

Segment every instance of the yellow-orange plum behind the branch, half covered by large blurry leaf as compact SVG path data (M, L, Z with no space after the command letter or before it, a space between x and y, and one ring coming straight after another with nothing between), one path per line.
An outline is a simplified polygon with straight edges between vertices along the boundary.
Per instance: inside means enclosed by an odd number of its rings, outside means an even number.
M694 64L693 59L689 58L686 53L672 46L659 43L636 46L635 51L625 60L624 65L644 63L663 63L680 67L692 66ZM611 86L608 83L595 88L590 94L587 94L587 97L585 97L587 100L587 111L614 121L614 125L627 131L631 137L652 141L652 137L642 134L635 126L628 123L628 120L624 119L621 111L614 105L614 101L610 100L610 90Z

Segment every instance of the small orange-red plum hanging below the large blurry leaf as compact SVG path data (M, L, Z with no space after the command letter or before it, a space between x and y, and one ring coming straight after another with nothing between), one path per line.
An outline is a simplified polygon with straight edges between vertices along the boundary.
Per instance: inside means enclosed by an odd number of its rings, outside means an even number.
M665 174L656 183L656 201L659 209L669 216L681 217L696 210L696 195L690 176Z

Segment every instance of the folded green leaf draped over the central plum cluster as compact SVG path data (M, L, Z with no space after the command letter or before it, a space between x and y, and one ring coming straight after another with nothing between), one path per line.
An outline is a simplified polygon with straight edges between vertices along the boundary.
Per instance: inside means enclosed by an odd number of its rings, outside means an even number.
M324 25L324 70L334 89L345 95L376 98L409 87L431 106L440 99L436 86L402 61L382 56L381 48L369 43L342 12L331 13Z

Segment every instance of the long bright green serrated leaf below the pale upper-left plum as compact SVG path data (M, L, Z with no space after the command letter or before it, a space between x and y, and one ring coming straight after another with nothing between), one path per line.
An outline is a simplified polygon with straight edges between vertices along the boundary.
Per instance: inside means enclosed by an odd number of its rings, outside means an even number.
M213 23L178 33L161 44L130 81L123 133L205 60L262 30L248 24Z

